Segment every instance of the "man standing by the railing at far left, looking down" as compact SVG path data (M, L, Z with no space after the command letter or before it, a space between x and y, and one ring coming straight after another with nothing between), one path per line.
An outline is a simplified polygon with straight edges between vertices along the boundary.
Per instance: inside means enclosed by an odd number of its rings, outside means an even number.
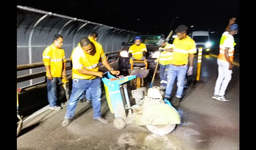
M61 83L61 77L66 76L66 58L64 49L61 49L63 38L57 34L53 44L46 47L43 52L43 62L47 76L47 96L50 109L60 110L57 104L57 84Z

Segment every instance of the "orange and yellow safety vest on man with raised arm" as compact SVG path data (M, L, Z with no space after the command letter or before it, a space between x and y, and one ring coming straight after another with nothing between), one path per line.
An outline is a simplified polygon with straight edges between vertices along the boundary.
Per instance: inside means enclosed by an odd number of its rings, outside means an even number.
M230 62L233 62L235 45L236 43L234 41L234 37L230 35L229 32L224 32L222 37L220 38L220 54L218 56L218 59L228 62L225 56L225 50L226 50L226 47L229 47L229 50L228 50L229 60Z

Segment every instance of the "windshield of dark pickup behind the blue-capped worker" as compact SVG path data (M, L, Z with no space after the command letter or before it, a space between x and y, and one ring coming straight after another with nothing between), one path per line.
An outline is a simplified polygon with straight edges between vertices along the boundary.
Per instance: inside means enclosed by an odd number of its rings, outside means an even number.
M133 36L130 38L128 44L134 44L134 38L136 36ZM161 39L161 36L156 36L156 35L140 35L142 41L141 43L144 43L145 45L158 45L159 39Z

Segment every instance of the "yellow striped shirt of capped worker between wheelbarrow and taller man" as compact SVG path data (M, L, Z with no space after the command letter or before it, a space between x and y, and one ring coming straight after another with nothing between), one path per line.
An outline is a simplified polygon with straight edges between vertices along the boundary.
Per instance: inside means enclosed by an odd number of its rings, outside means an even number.
M171 48L173 48L173 45L169 44L169 43L166 43L166 45L163 49L171 49ZM159 49L162 49L162 48L159 47ZM172 52L163 51L163 52L160 53L159 59L157 58L157 61L159 61L159 64L167 65L167 64L171 64L172 58L173 58L173 53Z

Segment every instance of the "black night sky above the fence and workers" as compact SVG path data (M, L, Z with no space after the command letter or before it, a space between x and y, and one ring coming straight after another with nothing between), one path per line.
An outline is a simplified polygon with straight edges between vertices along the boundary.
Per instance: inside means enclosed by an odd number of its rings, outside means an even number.
M72 1L17 1L17 5L59 13L78 19L113 26L130 31L168 35L184 24L188 32L203 30L219 37L229 19L236 17L239 25L239 0L177 0L176 1L122 1L122 0L72 0ZM193 26L191 28L191 26ZM219 33L219 34L217 34ZM238 36L237 34L236 36Z

